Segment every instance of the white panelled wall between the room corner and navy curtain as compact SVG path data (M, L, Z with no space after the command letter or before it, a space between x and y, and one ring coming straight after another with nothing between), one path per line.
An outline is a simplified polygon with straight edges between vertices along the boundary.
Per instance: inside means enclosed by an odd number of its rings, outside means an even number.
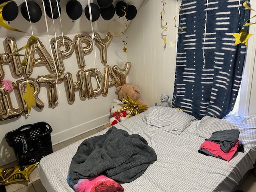
M173 17L177 15L176 0L166 1L163 20L167 31L161 28L162 2L146 0L142 4L136 19L132 20L128 30L128 59L132 62L129 74L131 83L141 90L141 98L154 106L165 93L172 98L176 64L177 28ZM165 24L163 22L163 24ZM166 44L162 38L166 37Z

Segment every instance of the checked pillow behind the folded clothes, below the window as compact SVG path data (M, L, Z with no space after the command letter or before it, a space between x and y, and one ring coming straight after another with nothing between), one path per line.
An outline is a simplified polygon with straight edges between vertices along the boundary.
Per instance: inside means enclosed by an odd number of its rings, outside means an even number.
M244 144L256 144L256 116L228 114L222 119L204 116L196 129L196 134L210 138L213 132L228 129L238 129L239 139L243 140Z

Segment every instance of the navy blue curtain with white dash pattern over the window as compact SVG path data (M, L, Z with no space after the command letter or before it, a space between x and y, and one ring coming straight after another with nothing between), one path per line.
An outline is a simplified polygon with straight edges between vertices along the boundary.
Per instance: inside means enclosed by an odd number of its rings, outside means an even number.
M182 0L172 107L197 119L223 118L233 109L246 45L235 45L232 34L249 19L244 1Z

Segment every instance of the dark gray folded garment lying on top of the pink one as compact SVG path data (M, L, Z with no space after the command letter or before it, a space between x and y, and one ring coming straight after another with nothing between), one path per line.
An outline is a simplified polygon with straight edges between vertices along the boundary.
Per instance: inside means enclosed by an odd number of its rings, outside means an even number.
M212 133L210 138L205 140L219 143L221 150L224 152L228 152L230 148L238 141L239 134L240 132L238 129L216 131Z

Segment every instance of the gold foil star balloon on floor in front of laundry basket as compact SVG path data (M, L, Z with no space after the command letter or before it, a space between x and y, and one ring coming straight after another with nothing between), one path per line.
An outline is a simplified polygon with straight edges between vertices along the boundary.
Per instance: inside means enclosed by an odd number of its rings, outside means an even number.
M0 185L10 184L19 181L29 182L30 173L36 168L39 162L26 165L26 166L14 166L8 168L0 168Z

